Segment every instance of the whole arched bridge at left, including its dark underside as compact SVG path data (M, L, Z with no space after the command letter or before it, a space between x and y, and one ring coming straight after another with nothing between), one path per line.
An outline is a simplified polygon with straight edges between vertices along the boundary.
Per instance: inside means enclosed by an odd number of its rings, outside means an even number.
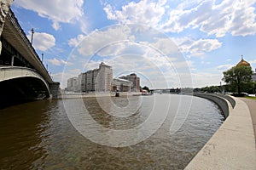
M3 3L0 7L1 18L5 19L0 23L0 108L36 99L57 99L60 83L49 76L9 5Z

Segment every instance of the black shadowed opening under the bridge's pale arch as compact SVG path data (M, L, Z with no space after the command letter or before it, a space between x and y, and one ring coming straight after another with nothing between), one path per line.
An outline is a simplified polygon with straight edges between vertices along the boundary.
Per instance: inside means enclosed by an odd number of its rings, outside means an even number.
M36 77L19 77L0 82L0 91L0 109L49 98L49 91L44 82Z

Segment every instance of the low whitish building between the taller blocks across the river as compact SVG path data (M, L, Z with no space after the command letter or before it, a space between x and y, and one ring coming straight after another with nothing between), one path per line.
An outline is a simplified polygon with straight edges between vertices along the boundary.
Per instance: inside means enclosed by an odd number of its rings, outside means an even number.
M113 91L119 90L119 92L130 92L132 82L121 78L113 78Z

